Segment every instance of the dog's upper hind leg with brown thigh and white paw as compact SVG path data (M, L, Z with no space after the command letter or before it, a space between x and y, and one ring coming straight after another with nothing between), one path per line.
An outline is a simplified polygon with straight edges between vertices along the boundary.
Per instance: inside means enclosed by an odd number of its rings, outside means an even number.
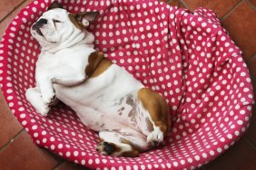
M138 91L138 99L143 108L149 113L147 127L151 127L147 142L151 146L158 146L162 143L171 127L171 116L169 107L162 96L149 88L143 88Z

